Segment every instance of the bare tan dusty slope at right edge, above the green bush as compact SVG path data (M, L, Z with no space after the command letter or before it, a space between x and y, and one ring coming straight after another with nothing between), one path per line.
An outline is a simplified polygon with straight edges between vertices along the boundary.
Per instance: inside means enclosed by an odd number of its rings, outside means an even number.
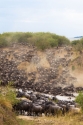
M77 79L77 82L74 85L76 87L83 87L83 54L78 53L76 57L71 61L70 73Z

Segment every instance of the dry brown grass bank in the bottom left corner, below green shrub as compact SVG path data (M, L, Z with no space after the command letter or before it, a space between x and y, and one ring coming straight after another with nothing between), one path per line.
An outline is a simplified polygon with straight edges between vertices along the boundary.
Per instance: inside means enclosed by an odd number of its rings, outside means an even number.
M0 101L0 125L20 125L16 119L15 113L10 108L11 105L6 100Z

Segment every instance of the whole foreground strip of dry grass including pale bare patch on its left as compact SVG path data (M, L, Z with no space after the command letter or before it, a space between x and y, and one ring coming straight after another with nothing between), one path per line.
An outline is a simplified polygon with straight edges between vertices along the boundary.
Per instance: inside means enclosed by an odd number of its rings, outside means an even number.
M66 116L59 116L59 117L43 116L35 118L26 116L26 118L23 117L23 120L27 120L28 121L27 123L34 123L32 125L83 125L82 114L68 114Z

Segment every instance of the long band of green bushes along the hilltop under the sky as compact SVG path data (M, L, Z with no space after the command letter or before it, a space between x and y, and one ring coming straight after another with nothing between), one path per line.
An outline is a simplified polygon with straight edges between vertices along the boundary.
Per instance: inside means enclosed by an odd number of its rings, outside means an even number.
M6 32L0 34L0 47L6 47L12 43L29 43L38 49L45 50L51 47L70 45L70 40L65 36L59 36L50 32Z

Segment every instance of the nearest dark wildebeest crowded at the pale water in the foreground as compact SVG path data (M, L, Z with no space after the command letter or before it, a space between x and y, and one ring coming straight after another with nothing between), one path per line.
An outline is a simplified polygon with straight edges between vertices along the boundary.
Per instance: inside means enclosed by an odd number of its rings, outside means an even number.
M15 104L13 109L18 114L29 116L65 115L71 109L77 109L74 94L72 93L72 96L68 97L70 100L59 100L53 95L19 89L17 98L20 99L20 102ZM74 100L71 100L72 97Z

